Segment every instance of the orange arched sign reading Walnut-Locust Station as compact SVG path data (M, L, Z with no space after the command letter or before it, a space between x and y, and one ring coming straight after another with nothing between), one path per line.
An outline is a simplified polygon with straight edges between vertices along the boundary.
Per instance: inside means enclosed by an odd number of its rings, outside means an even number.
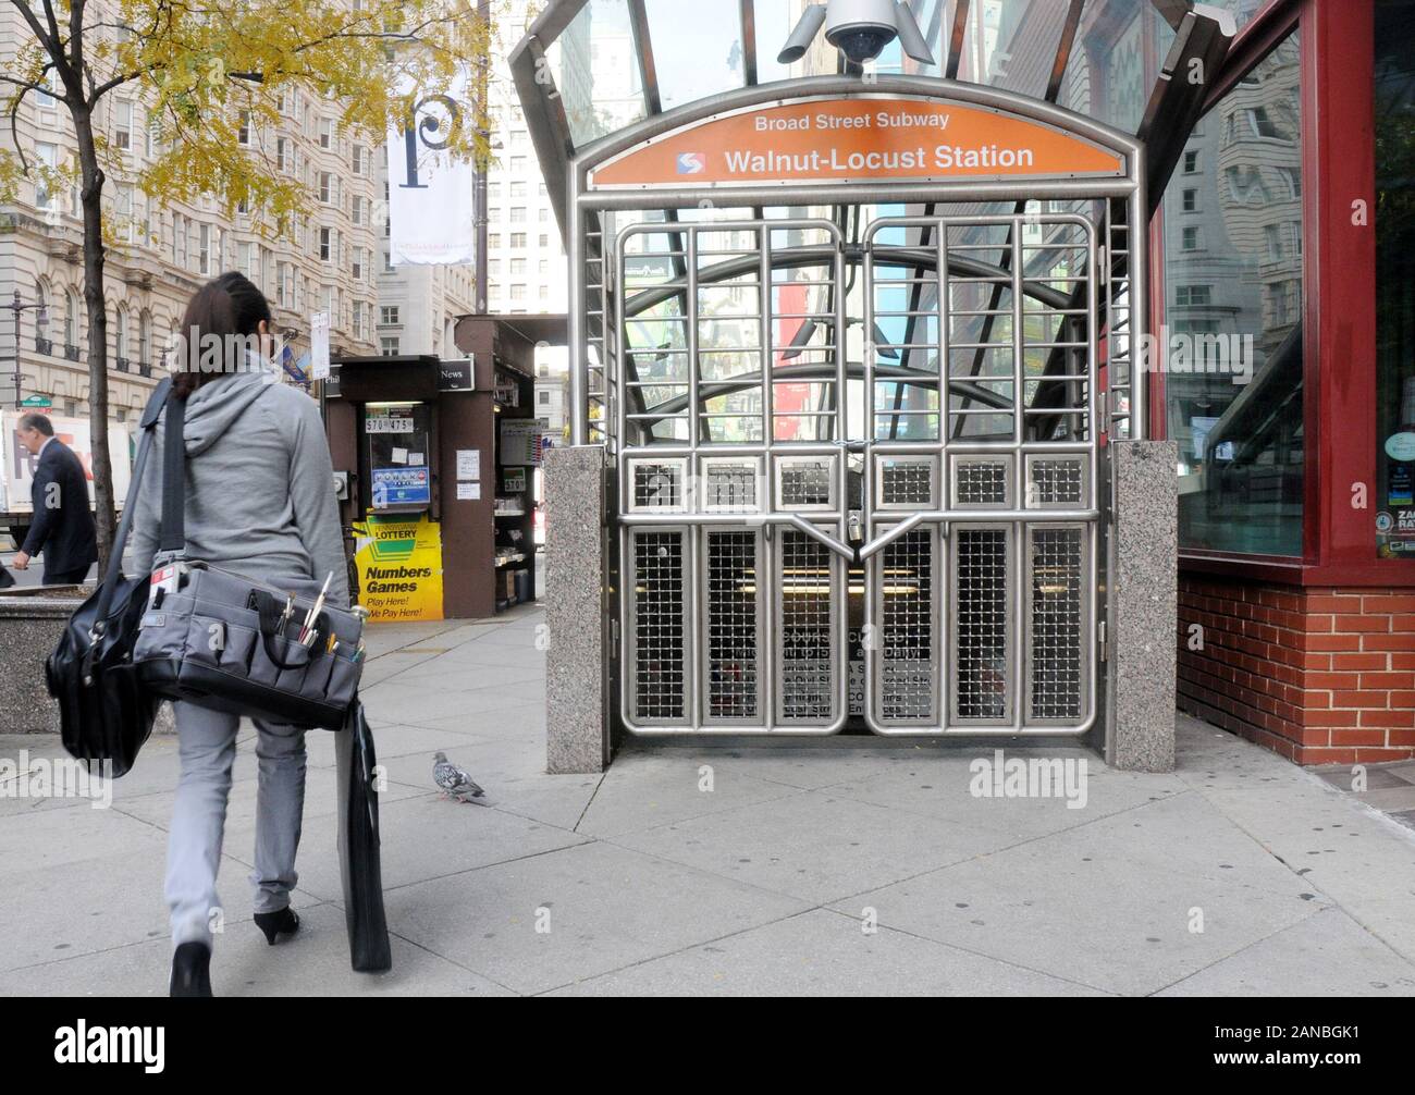
M1119 153L1041 122L882 96L804 99L695 122L594 168L590 188L1124 174Z

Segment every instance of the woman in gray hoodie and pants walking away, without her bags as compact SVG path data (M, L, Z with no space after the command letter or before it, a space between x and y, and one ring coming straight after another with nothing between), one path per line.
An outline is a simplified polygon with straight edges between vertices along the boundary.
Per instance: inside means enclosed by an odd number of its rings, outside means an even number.
M202 286L178 330L171 399L185 400L188 560L276 589L348 604L348 569L318 406L279 382L270 306L246 277ZM133 564L153 569L161 536L163 426L134 514ZM178 702L181 777L167 847L173 996L211 996L212 931L225 921L216 871L236 755L235 714ZM304 727L256 720L255 922L266 941L291 935L304 811Z

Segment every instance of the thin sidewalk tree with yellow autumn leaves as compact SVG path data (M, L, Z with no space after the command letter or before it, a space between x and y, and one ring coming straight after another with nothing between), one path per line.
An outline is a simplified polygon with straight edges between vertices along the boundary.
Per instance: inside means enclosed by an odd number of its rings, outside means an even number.
M467 71L485 64L485 4L478 13L467 0L8 3L30 37L8 71L0 72L13 144L0 147L0 197L13 195L21 177L78 187L102 567L115 526L103 287L112 226L105 225L105 182L127 173L158 202L207 194L228 215L239 204L272 231L289 225L306 211L310 195L242 143L242 130L279 124L284 96L303 91L327 98L341 112L344 129L378 147L391 130L408 124L416 103L466 88ZM125 86L139 88L149 103L160 150L136 175L95 124L105 96ZM52 95L74 123L78 161L67 178L59 178L67 174L62 168L37 164L20 140L20 106L37 92ZM468 106L457 115L466 123L437 136L453 154L480 161L487 156L485 102Z

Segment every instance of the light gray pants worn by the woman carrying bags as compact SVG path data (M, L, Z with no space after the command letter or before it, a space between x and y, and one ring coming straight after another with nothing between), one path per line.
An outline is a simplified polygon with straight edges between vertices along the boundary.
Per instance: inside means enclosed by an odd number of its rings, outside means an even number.
M216 898L221 836L236 758L235 714L174 703L181 778L167 840L167 907L173 946L204 942L224 922ZM294 853L304 815L304 729L256 720L255 911L279 912L290 904L299 876Z

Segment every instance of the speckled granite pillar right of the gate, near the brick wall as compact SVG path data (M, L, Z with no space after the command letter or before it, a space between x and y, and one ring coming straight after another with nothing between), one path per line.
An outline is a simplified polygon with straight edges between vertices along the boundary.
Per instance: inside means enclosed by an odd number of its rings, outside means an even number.
M1109 596L1109 720L1105 761L1174 768L1179 478L1174 441L1111 444L1114 563Z

